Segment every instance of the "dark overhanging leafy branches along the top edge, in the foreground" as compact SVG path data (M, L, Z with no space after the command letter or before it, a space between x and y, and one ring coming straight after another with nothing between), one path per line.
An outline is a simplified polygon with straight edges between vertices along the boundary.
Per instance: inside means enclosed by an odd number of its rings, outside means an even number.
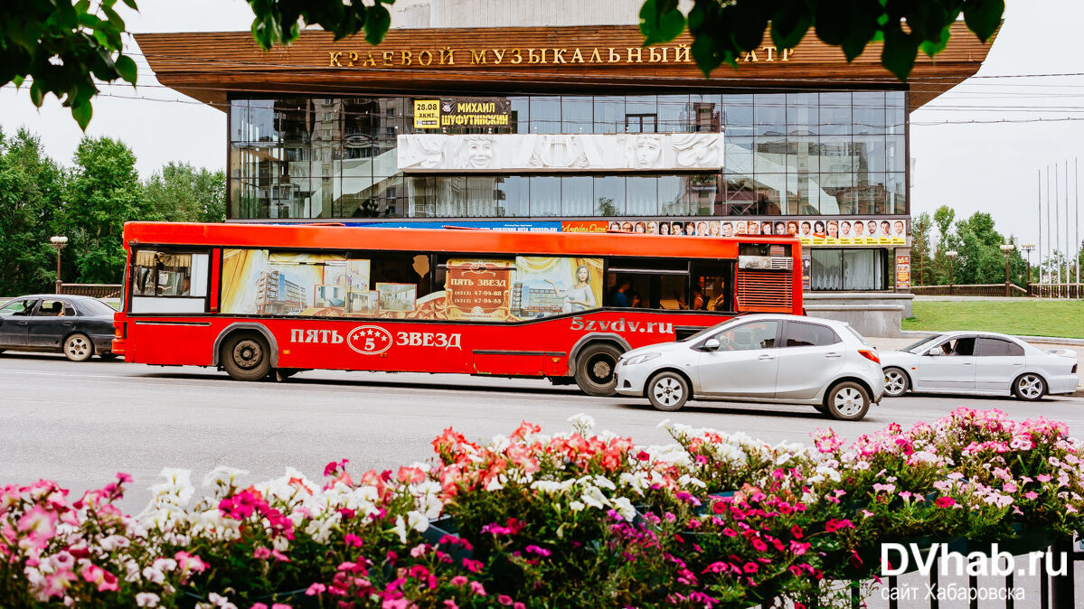
M44 94L53 93L86 129L90 100L98 93L93 78L122 79L134 86L136 63L122 52L126 30L114 10L117 0L72 1L0 2L0 85L21 86L30 79L35 105L40 107ZM137 10L136 0L122 2ZM255 15L253 38L268 50L297 40L302 25L315 25L335 40L364 33L370 44L378 44L391 24L385 4L393 2L248 0ZM736 66L743 52L761 46L765 30L771 29L776 48L792 49L812 27L823 42L839 47L848 61L870 41L883 41L881 64L906 80L919 51L932 57L945 48L950 26L960 14L985 42L1005 12L1004 0L694 0L687 14L678 2L644 2L640 12L644 46L673 40L687 28L693 59L705 76L723 63Z

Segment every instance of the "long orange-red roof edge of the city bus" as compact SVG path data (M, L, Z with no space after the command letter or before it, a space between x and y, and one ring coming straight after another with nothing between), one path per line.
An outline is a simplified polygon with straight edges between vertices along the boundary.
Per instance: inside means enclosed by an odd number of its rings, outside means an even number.
M738 244L741 243L799 244L796 237L774 235L679 237L618 233L194 222L127 222L124 239L126 248L149 244L662 258L737 258ZM797 248L792 251L797 251Z

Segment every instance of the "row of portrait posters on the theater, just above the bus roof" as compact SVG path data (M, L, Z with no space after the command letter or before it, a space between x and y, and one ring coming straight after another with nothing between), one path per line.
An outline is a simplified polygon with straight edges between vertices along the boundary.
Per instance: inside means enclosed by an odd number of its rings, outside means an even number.
M902 218L811 218L799 220L602 220L566 221L562 231L621 231L671 236L791 235L802 245L906 245Z

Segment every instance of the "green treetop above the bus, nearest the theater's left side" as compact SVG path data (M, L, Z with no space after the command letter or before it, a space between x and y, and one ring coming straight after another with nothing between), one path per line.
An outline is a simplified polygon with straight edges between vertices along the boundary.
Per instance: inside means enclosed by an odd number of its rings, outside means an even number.
M157 220L225 220L225 173L169 163L143 183L143 199Z

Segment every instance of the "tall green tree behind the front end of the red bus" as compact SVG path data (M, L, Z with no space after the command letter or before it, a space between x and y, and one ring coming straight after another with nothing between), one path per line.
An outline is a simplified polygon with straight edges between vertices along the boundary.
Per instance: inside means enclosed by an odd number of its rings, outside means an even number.
M120 283L124 224L153 218L141 196L136 155L118 140L83 138L66 190L62 223L79 281Z

